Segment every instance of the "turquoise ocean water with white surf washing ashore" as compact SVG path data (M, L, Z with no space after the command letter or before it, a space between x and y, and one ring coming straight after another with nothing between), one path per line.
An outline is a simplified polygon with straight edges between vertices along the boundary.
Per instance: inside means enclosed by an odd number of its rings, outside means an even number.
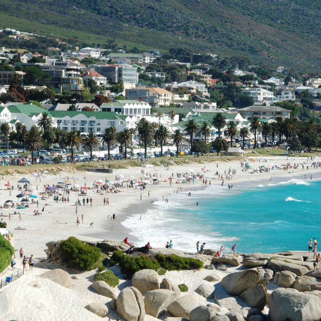
M221 245L230 251L234 243L242 253L306 250L310 238L321 235L321 181L291 179L278 184L240 189L211 186L203 191L170 195L153 208L135 214L123 225L139 241L163 247L195 250L196 241L207 248ZM196 202L199 206L196 207Z

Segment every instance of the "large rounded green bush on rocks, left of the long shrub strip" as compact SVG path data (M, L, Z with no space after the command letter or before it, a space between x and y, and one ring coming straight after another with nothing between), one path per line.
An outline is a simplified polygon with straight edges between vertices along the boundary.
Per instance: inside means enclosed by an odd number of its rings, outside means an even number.
M79 271L90 271L100 259L100 249L70 237L60 243L61 258L70 267Z

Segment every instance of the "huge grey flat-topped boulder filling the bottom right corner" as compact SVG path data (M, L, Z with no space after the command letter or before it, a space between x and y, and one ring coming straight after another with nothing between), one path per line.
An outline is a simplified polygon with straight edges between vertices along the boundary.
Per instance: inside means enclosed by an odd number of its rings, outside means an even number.
M315 321L321 319L321 299L294 289L278 289L269 298L271 321Z

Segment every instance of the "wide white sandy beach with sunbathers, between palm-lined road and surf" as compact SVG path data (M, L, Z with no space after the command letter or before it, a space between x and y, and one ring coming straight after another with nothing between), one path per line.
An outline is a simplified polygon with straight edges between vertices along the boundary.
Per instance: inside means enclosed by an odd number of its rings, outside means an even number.
M43 206L45 206L44 212L39 215L33 215L33 211L37 209L36 205L30 205L30 208L17 210L22 214L22 222L19 222L18 215L12 215L11 221L9 221L8 217L4 217L4 220L8 224L8 229L14 234L14 247L18 251L20 247L23 248L24 254L30 256L33 254L36 258L45 258L46 255L44 253L44 249L46 248L45 244L48 241L56 241L61 239L66 239L69 236L75 236L82 240L102 240L102 239L115 239L115 240L123 240L126 236L129 236L129 240L135 244L135 238L132 235L128 235L130 232L127 228L125 228L121 222L124 221L128 216L132 214L142 215L142 219L144 219L144 213L146 209L152 206L151 202L156 200L156 197L161 198L164 195L165 198L169 199L171 195L173 195L174 190L177 187L183 187L182 196L187 196L188 191L192 188L201 189L205 188L202 181L195 180L195 184L175 184L176 182L176 173L185 173L190 170L194 170L195 174L197 172L201 172L201 168L205 167L205 179L207 179L208 183L211 180L212 185L220 186L220 188L227 189L228 183L234 184L233 191L237 188L237 186L242 187L250 187L259 184L271 184L276 183L280 180L290 180L291 178L300 178L304 179L304 174L306 174L307 179L310 178L310 175L313 175L313 179L320 177L320 168L313 169L310 167L308 170L306 168L302 170L300 166L298 169L292 169L288 171L284 171L283 169L274 169L270 172L263 173L253 173L251 169L247 172L242 172L242 168L240 166L240 161L220 161L218 162L206 162L204 160L204 164L187 164L185 166L176 165L171 166L168 170L165 167L154 167L153 169L144 168L145 174L148 175L151 173L153 175L156 173L158 178L161 180L161 183L158 185L147 185L145 191L142 193L142 201L140 201L141 191L139 187L135 188L126 188L126 183L124 182L124 188L121 189L120 193L107 193L107 195L100 195L96 193L96 190L87 190L87 195L93 198L93 206L80 206L78 207L78 214L75 213L75 201L79 198L82 200L82 196L78 195L78 192L70 193L70 201L69 203L56 203L53 201L53 197L49 197L47 201L39 200L39 212L41 212ZM270 164L281 165L286 161L286 157L270 157L267 162L253 162L255 168L258 165L271 166ZM289 158L289 161L291 159ZM306 158L298 158L294 159L294 162L302 162L307 161ZM309 165L309 162L308 162ZM305 166L306 167L306 166ZM115 175L119 177L119 175L123 175L124 179L130 179L130 176L134 176L135 179L139 179L142 174L142 167L132 167L129 169L119 169L114 174L96 174L92 172L82 172L82 171L73 171L73 172L62 172L57 175L52 174L44 174L44 177L41 178L41 183L36 181L36 178L31 175L27 175L26 178L30 180L30 183L33 186L38 185L38 192L43 191L43 187L45 184L56 184L60 180L64 180L68 178L71 180L71 184L79 184L84 186L85 182L88 187L91 187L94 181L101 179L105 181L105 179L115 181ZM236 175L233 176L233 179L230 182L225 181L224 187L221 187L221 180L217 179L215 176L215 172L219 171L219 173L224 173L224 170L228 172L229 169L236 169ZM169 182L164 182L166 178L171 176L174 173L173 184L170 187ZM224 175L223 175L224 176ZM7 176L5 179L0 180L0 186L2 185L2 189L0 190L0 197L3 202L5 200L11 199L16 201L16 195L18 194L17 184L18 180L21 179L23 175L12 175ZM211 178L213 177L213 178ZM273 177L272 182L270 178ZM9 191L5 190L4 184L7 181L14 186L14 190L12 191L12 196L9 196ZM148 197L147 193L150 191L150 197ZM39 194L37 194L39 195ZM61 196L60 196L61 197ZM109 206L103 205L104 197L109 198ZM86 198L86 197L85 197ZM4 215L8 215L9 212L13 213L14 209L9 210L1 210ZM108 215L117 216L117 222L108 221ZM84 223L80 224L79 227L76 227L76 217L84 215ZM90 223L94 222L93 228L90 228ZM26 230L14 230L16 227L21 226ZM152 240L146 240L151 241ZM164 239L164 242L166 240ZM139 244L135 244L139 245ZM143 244L144 245L144 244ZM211 244L208 245L208 248L211 247ZM16 257L18 257L18 252L16 252Z

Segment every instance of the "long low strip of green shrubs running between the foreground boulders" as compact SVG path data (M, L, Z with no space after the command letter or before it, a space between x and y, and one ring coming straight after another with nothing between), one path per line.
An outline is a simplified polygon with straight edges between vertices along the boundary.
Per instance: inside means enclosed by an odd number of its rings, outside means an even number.
M109 264L112 266L117 263L122 269L122 272L129 276L143 269L159 271L159 274L163 275L164 269L168 271L180 271L200 269L203 267L201 260L180 257L175 254L169 256L157 254L155 258L149 258L146 255L128 256L120 251L115 251L110 258ZM163 270L161 270L161 268L163 268Z

